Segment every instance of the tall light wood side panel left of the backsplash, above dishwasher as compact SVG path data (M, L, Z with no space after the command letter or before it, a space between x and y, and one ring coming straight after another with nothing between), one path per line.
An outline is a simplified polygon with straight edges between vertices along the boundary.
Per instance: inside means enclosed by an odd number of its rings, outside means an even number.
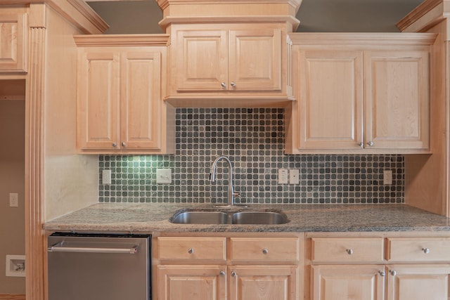
M44 197L45 219L51 220L98 202L98 157L78 155L76 150L73 35L81 32L51 8L47 18Z

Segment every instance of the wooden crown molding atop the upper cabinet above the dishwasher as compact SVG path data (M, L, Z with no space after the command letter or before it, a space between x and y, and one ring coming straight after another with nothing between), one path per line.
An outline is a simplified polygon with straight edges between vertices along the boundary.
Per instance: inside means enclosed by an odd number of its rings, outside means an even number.
M167 46L169 34L77 34L75 44L97 46Z

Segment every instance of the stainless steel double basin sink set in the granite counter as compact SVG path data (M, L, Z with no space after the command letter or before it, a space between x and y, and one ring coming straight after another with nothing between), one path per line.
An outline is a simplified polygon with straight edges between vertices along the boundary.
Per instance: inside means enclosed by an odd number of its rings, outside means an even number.
M275 210L220 210L220 209L182 209L170 220L179 224L266 224L288 223L288 217L282 211Z

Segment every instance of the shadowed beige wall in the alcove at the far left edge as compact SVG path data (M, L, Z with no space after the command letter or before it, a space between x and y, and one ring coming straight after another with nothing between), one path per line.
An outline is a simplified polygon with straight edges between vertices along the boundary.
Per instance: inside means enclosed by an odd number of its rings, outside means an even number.
M6 254L25 255L24 100L0 100L0 141L0 294L25 294L25 277L5 275ZM9 193L19 207L9 207Z

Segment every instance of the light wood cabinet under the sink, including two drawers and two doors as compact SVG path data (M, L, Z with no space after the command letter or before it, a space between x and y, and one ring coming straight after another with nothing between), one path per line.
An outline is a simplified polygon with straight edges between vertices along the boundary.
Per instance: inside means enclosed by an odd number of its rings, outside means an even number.
M159 300L297 300L298 237L158 237Z

